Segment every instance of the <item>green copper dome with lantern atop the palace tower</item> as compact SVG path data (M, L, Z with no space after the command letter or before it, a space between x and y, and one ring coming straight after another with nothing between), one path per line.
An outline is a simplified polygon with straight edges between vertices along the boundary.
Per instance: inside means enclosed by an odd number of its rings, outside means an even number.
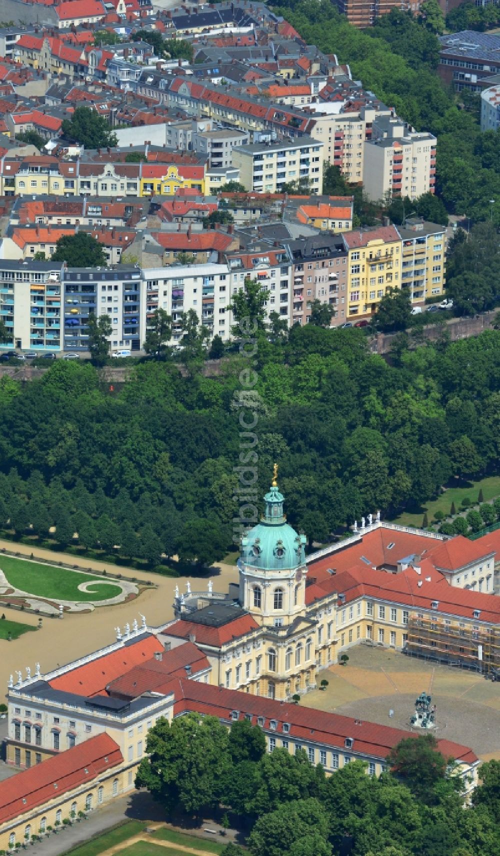
M277 484L272 484L264 499L264 517L241 538L241 562L270 571L299 568L306 562L306 536L287 523Z

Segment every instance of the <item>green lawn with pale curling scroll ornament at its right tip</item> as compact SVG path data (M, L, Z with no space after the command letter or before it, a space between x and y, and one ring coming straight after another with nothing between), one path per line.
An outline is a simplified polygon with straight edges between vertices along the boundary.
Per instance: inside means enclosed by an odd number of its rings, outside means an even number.
M25 559L15 559L11 556L0 556L0 568L2 568L13 588L28 591L29 594L37 597L86 602L116 597L122 591L121 586L108 582L101 583L102 577L80 574L69 571L67 568L55 568L52 565L28 562ZM99 585L93 586L93 593L92 591L78 591L80 583L88 583L93 580L99 580Z

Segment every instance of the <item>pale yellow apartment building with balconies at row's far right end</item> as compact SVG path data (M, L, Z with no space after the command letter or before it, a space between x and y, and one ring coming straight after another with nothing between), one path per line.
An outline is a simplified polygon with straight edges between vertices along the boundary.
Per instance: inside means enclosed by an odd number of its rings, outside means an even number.
M408 219L397 227L402 237L402 288L414 305L443 294L446 276L446 232L437 223Z

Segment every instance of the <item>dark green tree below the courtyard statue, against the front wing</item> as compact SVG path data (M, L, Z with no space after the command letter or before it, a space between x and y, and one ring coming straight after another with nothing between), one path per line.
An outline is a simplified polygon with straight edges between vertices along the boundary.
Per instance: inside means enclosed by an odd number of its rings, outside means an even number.
M393 774L424 803L432 803L433 788L445 778L448 767L433 734L403 738L390 750L387 762Z

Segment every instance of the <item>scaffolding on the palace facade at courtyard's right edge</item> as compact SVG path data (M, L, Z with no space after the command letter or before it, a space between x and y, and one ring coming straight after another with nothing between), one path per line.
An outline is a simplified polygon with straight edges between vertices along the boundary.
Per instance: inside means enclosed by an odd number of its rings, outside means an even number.
M449 666L500 673L500 627L485 627L437 615L410 615L405 652Z

